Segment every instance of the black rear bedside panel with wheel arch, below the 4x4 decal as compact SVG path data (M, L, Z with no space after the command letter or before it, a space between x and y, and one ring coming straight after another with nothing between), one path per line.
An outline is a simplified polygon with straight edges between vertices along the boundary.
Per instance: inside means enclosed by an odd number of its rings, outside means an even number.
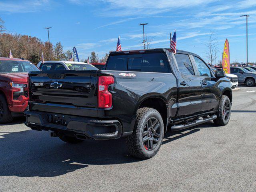
M112 93L112 109L98 110L98 117L118 118L123 124L123 132L133 130L136 111L147 98L160 98L166 104L168 116L176 113L177 82L171 73L100 71L102 75L112 74L115 83L108 90ZM122 76L132 73L134 77ZM172 106L175 106L172 108ZM172 108L172 110L170 110ZM171 113L172 111L172 113Z

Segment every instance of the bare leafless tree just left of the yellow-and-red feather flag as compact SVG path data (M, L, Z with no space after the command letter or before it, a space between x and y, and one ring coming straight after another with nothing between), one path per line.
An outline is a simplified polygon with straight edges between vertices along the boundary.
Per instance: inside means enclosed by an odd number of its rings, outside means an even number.
M215 32L212 31L208 36L208 41L203 42L203 44L206 46L206 51L204 52L206 54L206 61L211 65L216 63L216 58L218 52L220 51L218 48L217 38L214 37L214 34Z

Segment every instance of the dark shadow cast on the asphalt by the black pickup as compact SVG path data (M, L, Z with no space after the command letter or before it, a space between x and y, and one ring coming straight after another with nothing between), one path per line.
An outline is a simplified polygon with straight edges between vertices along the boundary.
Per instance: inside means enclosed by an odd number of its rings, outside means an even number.
M167 132L163 144L199 130L193 128L187 133L180 132L178 136L175 134L179 132ZM128 155L125 138L66 144L58 138L51 138L49 132L0 132L0 176L54 177L90 165L138 161L141 160Z

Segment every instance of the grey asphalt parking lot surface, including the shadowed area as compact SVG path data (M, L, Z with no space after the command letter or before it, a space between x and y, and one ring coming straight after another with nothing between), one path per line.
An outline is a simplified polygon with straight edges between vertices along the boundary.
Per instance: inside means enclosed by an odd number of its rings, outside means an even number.
M70 145L24 118L2 124L1 191L254 191L256 87L239 88L227 126L167 132L149 160L129 156L124 139Z

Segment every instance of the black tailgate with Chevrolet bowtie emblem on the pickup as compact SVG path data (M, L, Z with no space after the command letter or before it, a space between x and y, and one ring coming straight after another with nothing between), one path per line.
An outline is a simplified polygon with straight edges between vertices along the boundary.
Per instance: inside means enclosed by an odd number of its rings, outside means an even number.
M98 116L96 71L30 72L29 78L31 110Z

